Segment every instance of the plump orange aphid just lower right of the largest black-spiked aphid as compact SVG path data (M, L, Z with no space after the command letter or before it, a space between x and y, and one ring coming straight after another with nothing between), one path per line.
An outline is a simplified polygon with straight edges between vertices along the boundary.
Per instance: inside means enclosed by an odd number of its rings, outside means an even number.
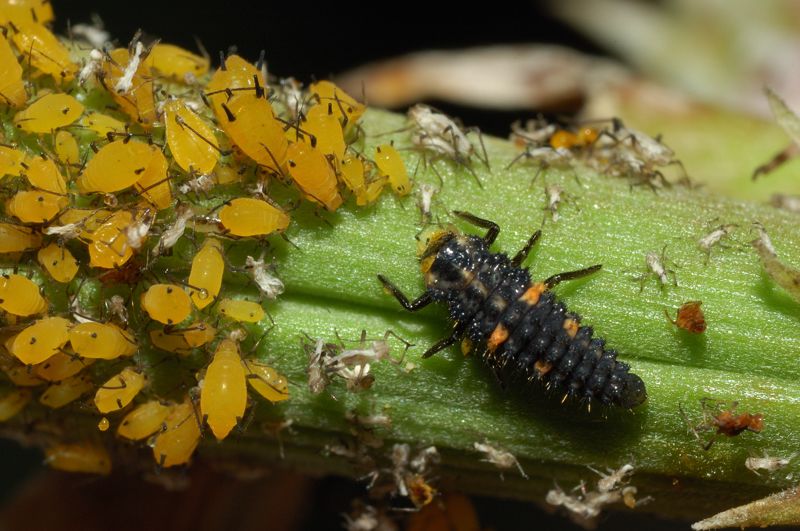
M287 151L289 175L312 201L334 211L342 204L336 187L336 173L325 155L308 144L296 142Z

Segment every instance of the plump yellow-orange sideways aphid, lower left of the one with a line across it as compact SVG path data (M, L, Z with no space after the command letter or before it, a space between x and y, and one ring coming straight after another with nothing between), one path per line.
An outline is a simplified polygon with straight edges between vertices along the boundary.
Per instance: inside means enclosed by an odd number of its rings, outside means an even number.
M84 193L112 193L133 186L157 152L157 147L135 140L106 144L89 159L78 177L78 188Z

